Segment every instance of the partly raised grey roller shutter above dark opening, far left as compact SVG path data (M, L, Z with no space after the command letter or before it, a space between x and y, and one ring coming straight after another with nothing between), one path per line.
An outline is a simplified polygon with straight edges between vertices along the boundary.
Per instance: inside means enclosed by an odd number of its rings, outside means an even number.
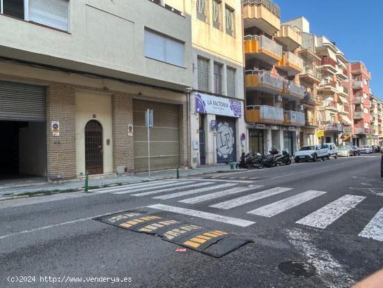
M45 121L45 86L0 81L0 120Z

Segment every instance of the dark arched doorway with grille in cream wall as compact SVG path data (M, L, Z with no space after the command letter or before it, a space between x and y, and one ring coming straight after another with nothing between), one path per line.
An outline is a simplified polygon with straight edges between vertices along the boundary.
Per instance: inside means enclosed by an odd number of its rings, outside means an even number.
M91 120L85 126L85 169L89 174L102 174L102 126Z

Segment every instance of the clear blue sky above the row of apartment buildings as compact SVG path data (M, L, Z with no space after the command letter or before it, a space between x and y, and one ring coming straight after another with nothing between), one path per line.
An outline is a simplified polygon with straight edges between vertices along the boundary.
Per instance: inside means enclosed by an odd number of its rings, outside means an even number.
M383 100L382 0L274 0L281 22L304 16L310 32L334 41L349 61L362 61L372 74L370 88Z

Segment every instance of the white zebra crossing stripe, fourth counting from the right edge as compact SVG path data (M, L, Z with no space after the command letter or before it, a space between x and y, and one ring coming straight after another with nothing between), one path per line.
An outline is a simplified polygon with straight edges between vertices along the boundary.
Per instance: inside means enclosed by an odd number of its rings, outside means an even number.
M210 207L218 208L218 209L231 209L240 205L244 205L250 202L257 201L259 199L263 199L272 195L276 195L282 192L286 192L292 190L292 188L283 188L283 187L276 187L268 190L264 190L261 192L256 192L250 195L238 197L235 199L231 199L225 202L221 202L218 204L210 205Z

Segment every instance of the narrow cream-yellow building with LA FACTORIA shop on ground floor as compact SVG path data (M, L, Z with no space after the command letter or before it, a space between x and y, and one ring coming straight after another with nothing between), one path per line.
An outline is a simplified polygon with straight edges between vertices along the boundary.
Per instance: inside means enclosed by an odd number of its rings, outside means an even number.
M189 0L193 83L192 167L235 161L247 151L241 2Z

